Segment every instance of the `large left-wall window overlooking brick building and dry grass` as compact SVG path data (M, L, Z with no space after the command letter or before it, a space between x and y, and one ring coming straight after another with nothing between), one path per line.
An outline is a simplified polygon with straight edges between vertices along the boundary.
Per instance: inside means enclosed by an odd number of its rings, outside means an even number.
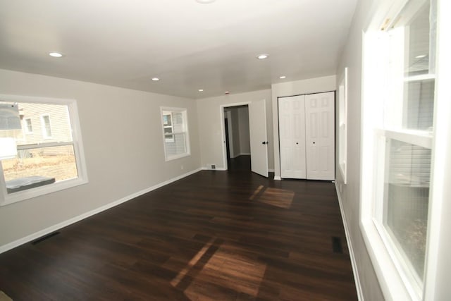
M19 126L0 127L0 139L15 148L0 161L0 205L87 183L75 100L0 95L2 106L17 107Z

